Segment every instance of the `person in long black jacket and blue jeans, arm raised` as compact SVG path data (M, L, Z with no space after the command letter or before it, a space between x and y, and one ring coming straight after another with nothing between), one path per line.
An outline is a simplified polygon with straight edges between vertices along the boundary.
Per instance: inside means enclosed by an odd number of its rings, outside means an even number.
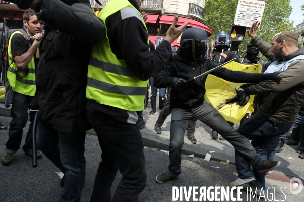
M37 147L63 173L59 201L79 201L85 183L87 70L92 44L102 39L104 24L77 0L17 1L47 23L37 66L39 117ZM61 183L63 185L63 183Z

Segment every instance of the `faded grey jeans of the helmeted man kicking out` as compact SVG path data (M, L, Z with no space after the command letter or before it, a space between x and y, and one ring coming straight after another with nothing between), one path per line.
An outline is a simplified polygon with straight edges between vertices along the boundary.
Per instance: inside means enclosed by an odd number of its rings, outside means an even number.
M196 118L220 133L235 149L237 149L253 167L259 168L262 159L250 145L249 141L232 129L224 117L206 100L192 109L173 108L171 110L169 173L177 177L181 173L181 148L184 144L184 134L188 120Z

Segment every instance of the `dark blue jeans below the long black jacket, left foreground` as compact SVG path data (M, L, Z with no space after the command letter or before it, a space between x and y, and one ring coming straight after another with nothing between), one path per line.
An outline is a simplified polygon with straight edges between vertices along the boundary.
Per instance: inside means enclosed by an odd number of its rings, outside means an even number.
M37 148L64 173L64 189L59 201L79 201L85 184L86 131L65 133L41 121L38 123Z

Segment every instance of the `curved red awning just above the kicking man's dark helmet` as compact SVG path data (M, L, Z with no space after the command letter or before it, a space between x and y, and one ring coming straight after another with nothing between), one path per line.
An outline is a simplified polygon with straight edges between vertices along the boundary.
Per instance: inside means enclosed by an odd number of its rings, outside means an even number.
M160 19L160 23L164 23L164 24L172 24L173 19L175 16L170 16L170 15L162 15L161 19ZM207 27L206 25L204 25L203 23L193 20L193 19L189 19L189 18L184 18L184 17L178 17L178 22L176 23L177 25L182 25L185 22L190 21L190 24L188 25L189 27L199 27L204 29L207 32L208 36L212 35L212 30Z

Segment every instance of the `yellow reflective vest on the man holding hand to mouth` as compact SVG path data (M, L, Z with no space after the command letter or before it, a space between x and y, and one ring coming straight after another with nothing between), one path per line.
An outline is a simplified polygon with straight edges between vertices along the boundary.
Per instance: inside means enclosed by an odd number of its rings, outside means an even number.
M8 81L12 90L24 95L35 96L36 94L36 74L34 57L24 69L19 68L12 56L11 38L15 34L24 34L20 31L15 31L11 34L8 45L8 63L9 68L7 72ZM24 36L24 38L26 38Z

